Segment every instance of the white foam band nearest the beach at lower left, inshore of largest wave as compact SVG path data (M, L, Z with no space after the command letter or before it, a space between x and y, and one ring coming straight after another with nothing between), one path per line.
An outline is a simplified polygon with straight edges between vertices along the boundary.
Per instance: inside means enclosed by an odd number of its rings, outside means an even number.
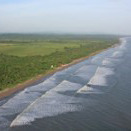
M45 92L54 86L56 86L55 81L53 79L48 79L37 86L24 89L0 107L0 117L20 113L31 102L40 97L42 92Z

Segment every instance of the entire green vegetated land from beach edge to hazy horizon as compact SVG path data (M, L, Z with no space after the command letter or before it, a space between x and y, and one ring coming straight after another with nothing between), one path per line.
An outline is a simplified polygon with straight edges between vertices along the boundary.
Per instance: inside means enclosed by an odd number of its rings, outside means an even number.
M118 43L117 36L0 35L0 90Z

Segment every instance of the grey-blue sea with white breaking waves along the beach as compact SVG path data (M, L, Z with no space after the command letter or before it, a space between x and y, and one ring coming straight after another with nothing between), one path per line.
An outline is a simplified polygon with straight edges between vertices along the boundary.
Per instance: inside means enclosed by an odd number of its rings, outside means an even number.
M131 39L121 41L1 101L0 130L131 130Z

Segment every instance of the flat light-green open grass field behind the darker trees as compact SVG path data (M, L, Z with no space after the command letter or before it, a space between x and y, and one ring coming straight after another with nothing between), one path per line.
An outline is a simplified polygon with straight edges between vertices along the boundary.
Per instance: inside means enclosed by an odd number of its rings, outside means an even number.
M36 56L49 55L55 51L64 51L65 47L78 48L79 44L51 44L51 43L32 43L32 44L0 44L0 53L13 56Z

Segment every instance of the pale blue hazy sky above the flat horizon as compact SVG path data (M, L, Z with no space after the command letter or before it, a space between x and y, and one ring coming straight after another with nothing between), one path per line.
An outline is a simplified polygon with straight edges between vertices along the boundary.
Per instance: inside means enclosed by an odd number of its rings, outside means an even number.
M0 32L131 35L131 0L0 0Z

